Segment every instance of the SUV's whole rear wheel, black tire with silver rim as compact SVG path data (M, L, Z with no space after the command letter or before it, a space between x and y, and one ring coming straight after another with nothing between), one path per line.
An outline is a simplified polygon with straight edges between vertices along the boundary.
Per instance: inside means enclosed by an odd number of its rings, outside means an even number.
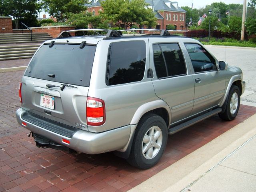
M136 128L128 163L148 169L160 160L167 143L167 126L162 117L150 114Z

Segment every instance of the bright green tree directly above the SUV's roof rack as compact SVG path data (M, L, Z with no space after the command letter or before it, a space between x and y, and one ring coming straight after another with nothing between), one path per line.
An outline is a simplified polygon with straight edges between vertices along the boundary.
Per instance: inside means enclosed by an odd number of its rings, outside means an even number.
M156 25L154 12L146 8L148 4L144 0L106 0L100 2L104 12L100 14L120 29L127 29L132 23Z

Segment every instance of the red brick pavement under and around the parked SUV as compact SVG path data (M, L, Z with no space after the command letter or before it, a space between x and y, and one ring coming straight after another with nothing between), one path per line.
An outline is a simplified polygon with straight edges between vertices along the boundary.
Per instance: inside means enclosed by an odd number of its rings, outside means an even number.
M214 116L170 135L160 162L138 170L112 153L76 156L37 148L26 135L29 131L16 123L18 82L23 73L0 74L0 192L127 191L256 113L255 107L241 105L231 122Z

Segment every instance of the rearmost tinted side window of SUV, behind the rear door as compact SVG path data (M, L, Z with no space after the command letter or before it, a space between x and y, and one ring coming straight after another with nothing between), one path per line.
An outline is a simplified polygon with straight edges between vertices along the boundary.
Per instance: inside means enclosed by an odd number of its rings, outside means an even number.
M141 81L146 64L144 41L111 43L108 50L106 84L116 85Z

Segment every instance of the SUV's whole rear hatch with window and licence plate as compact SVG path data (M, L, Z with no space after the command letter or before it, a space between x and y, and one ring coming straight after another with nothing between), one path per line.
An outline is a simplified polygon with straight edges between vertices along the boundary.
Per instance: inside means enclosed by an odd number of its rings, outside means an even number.
M22 108L76 128L86 126L86 100L96 45L43 44L22 78Z

